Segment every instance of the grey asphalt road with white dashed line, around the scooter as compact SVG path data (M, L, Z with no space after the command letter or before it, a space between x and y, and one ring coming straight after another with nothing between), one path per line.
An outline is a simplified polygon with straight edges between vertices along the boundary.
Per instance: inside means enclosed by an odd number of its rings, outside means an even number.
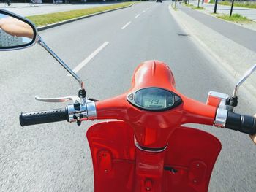
M42 31L40 35L72 69L95 53L78 74L88 96L108 99L127 91L132 72L142 61L165 61L178 91L206 101L208 91L232 93L233 82L179 28L168 4L147 2ZM105 43L107 42L107 43ZM35 45L0 53L0 191L93 191L93 169L82 126L67 122L27 126L20 112L48 110L39 96L76 95L78 82ZM241 93L243 96L243 93ZM240 100L239 111L252 114L252 101ZM197 127L197 126L196 126ZM255 191L256 150L245 134L199 126L222 142L209 191Z

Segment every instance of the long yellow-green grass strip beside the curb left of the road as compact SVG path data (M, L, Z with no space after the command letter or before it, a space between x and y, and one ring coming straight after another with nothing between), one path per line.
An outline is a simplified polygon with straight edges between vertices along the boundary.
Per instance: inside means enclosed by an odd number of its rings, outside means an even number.
M26 18L31 20L37 27L47 26L53 23L58 23L58 22L73 19L73 18L79 18L82 16L94 14L97 12L104 12L110 9L127 7L133 3L134 2L125 2L121 4L113 4L113 5L102 6L102 7L93 7L88 9L78 9L78 10L72 10L67 12L54 12L54 13L44 14L44 15L33 15L33 16L28 16Z

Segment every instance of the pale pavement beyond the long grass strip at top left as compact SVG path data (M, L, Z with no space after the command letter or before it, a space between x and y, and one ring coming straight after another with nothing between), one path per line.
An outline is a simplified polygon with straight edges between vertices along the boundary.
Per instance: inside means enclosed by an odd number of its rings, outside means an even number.
M52 12L64 12L75 9L86 9L91 7L107 6L110 4L116 4L118 2L106 2L106 3L86 3L86 4L36 4L35 6L29 6L29 4L12 4L12 7L4 7L0 4L0 9L6 9L10 12L15 12L18 15L30 16L41 15Z

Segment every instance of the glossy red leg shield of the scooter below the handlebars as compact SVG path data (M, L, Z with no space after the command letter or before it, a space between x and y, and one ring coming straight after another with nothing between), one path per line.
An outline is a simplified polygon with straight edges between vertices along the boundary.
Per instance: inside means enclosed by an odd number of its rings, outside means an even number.
M221 150L216 137L187 127L176 128L162 153L138 150L132 127L123 121L97 123L87 137L96 192L207 191Z

